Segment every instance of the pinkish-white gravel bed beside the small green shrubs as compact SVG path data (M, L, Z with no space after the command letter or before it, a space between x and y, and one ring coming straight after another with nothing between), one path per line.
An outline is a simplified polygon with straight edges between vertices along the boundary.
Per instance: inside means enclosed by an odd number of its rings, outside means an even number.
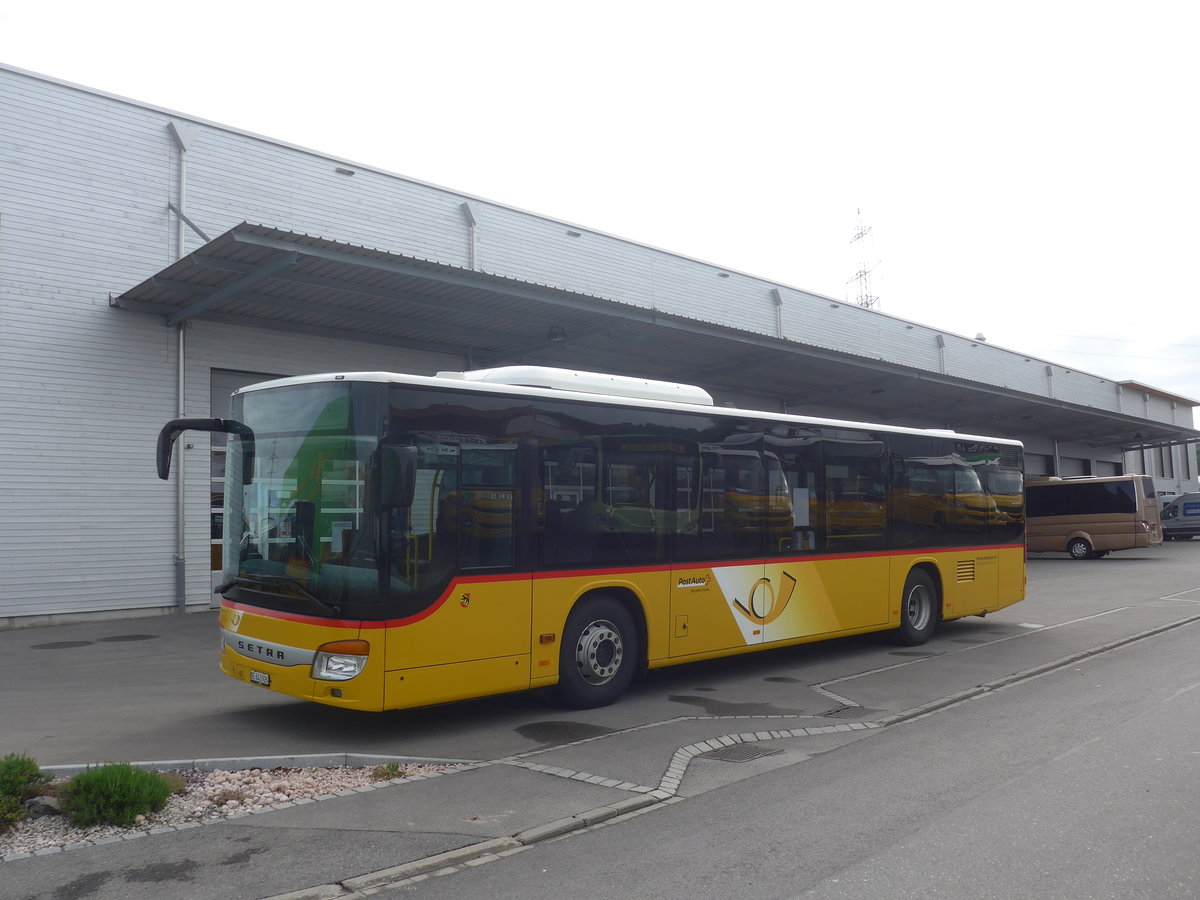
M0 860L53 852L74 844L107 844L139 834L176 830L229 816L271 809L282 803L328 799L338 792L368 785L398 784L414 775L431 775L455 766L401 764L396 778L374 766L330 768L241 769L212 772L175 769L185 780L185 793L172 794L157 812L138 816L137 824L76 828L66 816L42 816L18 822L0 834Z

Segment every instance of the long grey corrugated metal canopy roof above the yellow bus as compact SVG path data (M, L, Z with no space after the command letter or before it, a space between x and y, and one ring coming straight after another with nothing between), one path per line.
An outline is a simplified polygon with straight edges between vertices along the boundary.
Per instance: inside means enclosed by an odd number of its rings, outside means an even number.
M1200 439L1072 404L643 306L242 223L112 301L204 319L514 364L685 382L763 409L1133 449Z

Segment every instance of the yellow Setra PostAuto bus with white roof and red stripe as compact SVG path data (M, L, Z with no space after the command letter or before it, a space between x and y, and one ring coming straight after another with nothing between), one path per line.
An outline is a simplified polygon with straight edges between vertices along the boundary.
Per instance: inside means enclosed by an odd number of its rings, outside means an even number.
M918 644L1025 594L1019 490L1009 515L936 521L920 494L931 458L1019 475L1012 440L540 367L245 388L232 419L163 427L161 476L188 428L230 434L221 670L318 703L552 688L596 707L650 668ZM943 479L932 503L986 482Z

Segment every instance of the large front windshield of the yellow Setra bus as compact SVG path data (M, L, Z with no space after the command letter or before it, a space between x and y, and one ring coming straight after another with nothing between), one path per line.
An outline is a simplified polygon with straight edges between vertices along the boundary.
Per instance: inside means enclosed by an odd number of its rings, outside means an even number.
M229 440L224 583L254 604L316 616L366 616L378 606L383 385L319 383L247 391L234 418L253 433Z

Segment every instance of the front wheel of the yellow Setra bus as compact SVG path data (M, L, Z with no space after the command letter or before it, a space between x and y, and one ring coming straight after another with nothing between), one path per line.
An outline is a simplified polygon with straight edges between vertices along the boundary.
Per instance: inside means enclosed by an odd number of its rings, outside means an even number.
M575 709L608 706L634 680L637 654L629 610L606 594L583 598L563 628L554 698Z

